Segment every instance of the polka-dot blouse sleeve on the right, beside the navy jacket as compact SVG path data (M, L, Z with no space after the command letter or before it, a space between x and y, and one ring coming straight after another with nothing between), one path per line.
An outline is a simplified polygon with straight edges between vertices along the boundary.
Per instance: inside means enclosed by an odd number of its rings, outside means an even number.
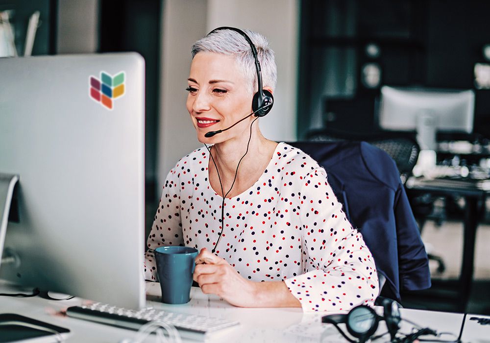
M290 292L303 311L342 311L373 302L379 288L374 259L347 221L325 170L314 169L301 181L304 273L285 280Z

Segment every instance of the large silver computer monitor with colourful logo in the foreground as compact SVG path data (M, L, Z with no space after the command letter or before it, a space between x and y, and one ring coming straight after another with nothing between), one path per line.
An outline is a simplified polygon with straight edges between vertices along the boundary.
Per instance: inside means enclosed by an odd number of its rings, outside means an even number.
M0 278L143 307L143 58L4 58L0 70L0 173L19 175L3 249L17 260Z

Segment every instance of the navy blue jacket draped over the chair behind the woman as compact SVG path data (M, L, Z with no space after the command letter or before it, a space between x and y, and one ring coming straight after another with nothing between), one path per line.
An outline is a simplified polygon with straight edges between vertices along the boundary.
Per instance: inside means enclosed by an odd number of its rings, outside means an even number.
M400 290L429 288L429 260L392 158L366 142L289 144L325 168L347 218L362 233L376 269L386 277L382 294L400 300Z

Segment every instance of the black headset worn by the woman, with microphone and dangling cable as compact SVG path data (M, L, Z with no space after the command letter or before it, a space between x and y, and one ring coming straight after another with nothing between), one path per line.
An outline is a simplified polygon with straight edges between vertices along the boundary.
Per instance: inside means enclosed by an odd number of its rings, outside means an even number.
M244 159L245 155L248 152L248 145L250 144L250 139L252 138L252 124L257 119L259 119L260 117L264 117L265 115L267 115L270 112L270 110L272 109L272 105L274 103L274 97L272 96L272 93L270 93L268 90L262 89L262 72L261 72L261 69L260 69L260 62L259 62L259 58L257 57L257 49L255 48L255 45L253 44L253 42L250 39L250 37L248 37L248 35L244 31L242 31L241 29L236 28L236 27L230 27L230 26L217 27L214 30L212 30L211 32L209 32L207 34L207 36L209 36L213 32L217 32L217 31L220 31L220 30L232 30L232 31L235 31L235 32L239 33L240 35L242 35L245 38L245 40L247 41L247 43L250 45L250 49L252 50L252 55L253 55L253 58L255 60L255 69L257 71L257 85L258 85L258 90L257 90L257 93L255 93L253 95L253 98L252 98L252 113L250 113L245 118L242 118L238 122L234 123L233 125L225 128L225 129L217 130L217 131L209 131L209 132L206 132L206 134L204 135L207 138L213 137L214 135L216 135L218 133L221 133L223 131L226 131L226 130L232 128L236 124L244 121L245 119L247 119L248 117L250 117L252 115L255 115L255 117L256 117L252 121L252 123L250 124L250 137L248 138L248 143L247 143L245 154L242 156L242 158L238 162L237 170L235 172L235 178L233 179L233 183L231 184L231 187L230 187L230 189L228 190L228 192L226 194L224 194L224 192L223 192L223 185L221 183L220 173L218 172L218 166L216 165L216 162L215 162L215 160L213 158L213 154L211 153L211 150L209 149L209 147L206 146L206 145L204 145L208 149L209 155L211 156L211 159L212 159L212 161L213 161L213 163L215 165L216 172L218 173L218 179L220 180L220 186L221 186L221 193L222 193L222 196L223 196L223 200L222 200L222 203L221 203L221 232L218 234L218 240L216 241L216 243L215 243L215 245L214 245L214 247L212 249L212 252L213 253L216 251L216 247L218 246L218 243L220 242L220 239L221 239L221 236L222 236L223 230L224 230L224 200L225 200L226 196L231 192L231 190L233 188L233 185L235 184L235 181L237 179L238 168L240 167L240 163L242 162L242 160Z

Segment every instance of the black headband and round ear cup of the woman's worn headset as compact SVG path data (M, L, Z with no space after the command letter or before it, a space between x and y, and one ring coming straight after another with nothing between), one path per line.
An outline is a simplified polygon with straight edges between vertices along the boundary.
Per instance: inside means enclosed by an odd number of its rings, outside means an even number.
M255 112L254 114L255 117L264 117L272 109L272 105L274 104L274 97L272 96L272 93L270 93L268 90L262 89L262 72L260 70L259 58L257 57L257 49L255 48L255 45L252 43L252 40L250 39L250 37L248 37L248 35L244 31L236 27L230 27L230 26L217 27L211 32L209 32L207 35L209 36L211 33L219 30L232 30L237 33L240 33L250 45L250 48L252 49L253 58L255 59L255 68L257 70L257 84L258 84L258 91L253 95L252 98L252 111Z

